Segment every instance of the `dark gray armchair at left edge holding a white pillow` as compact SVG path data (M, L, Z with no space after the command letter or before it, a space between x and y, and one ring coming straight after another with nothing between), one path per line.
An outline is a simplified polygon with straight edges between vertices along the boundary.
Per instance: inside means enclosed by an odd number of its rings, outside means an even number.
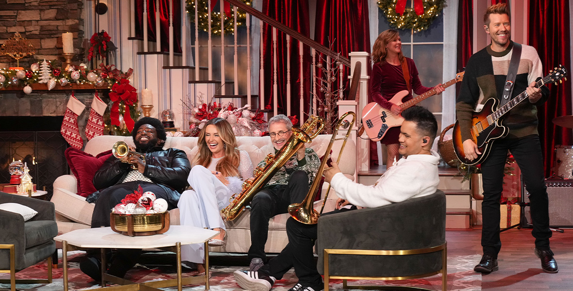
M0 273L10 273L11 290L18 283L51 283L52 254L58 235L54 203L0 192L0 203L18 203L38 212L24 222L22 215L0 210ZM15 273L48 258L48 280L15 280Z

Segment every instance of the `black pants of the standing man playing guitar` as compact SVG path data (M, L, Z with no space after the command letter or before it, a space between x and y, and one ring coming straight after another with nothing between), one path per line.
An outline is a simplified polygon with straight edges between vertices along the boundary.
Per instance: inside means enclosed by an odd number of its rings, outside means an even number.
M507 151L511 151L523 175L525 188L529 192L532 235L535 246L549 249L549 199L543 175L543 155L539 136L529 135L519 139L494 141L488 158L481 163L484 201L481 203L483 229L481 246L484 254L497 258L501 249L500 240L500 198L503 191L503 176Z

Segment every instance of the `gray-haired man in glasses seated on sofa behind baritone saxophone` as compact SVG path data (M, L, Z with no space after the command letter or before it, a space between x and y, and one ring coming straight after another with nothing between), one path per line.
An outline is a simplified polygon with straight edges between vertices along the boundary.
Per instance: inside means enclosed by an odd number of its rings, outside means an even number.
M270 140L276 153L292 135L292 122L285 115L272 117L268 123ZM263 160L258 166L264 166ZM312 148L302 147L282 166L269 182L254 195L250 210L251 246L248 257L250 269L257 270L266 261L265 243L269 231L269 219L287 213L288 206L300 203L308 194L310 184L320 167L319 156Z

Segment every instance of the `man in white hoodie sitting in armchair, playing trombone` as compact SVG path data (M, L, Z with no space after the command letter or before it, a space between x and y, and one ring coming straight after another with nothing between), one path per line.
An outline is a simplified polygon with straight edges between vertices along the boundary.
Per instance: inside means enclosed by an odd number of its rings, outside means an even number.
M324 171L326 182L340 197L340 206L352 203L362 207L379 207L398 203L410 198L433 194L438 186L438 160L431 145L438 124L434 115L423 107L414 106L402 112L399 153L403 156L374 186L366 186L346 178L336 163ZM335 211L338 212L338 211ZM325 214L326 215L326 214ZM317 236L317 225L305 225L289 218L286 221L289 243L268 264L256 272L235 271L234 277L241 288L268 291L274 281L292 267L299 282L289 291L318 291L323 289L323 281L313 258L313 246Z

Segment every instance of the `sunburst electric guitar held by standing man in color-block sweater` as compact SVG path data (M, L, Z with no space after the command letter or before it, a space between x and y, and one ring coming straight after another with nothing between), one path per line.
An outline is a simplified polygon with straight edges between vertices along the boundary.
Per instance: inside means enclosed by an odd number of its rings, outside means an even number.
M540 88L541 86L557 81L562 82L567 80L567 71L562 65L559 68L555 68L550 71L550 74L542 78L535 83L535 88ZM460 124L456 120L454 125L454 131L452 133L452 140L454 144L454 152L460 161L466 165L479 164L487 158L493 141L496 139L503 138L509 133L509 129L504 125L501 125L501 121L506 113L508 113L513 107L521 103L521 101L528 99L527 91L521 92L515 98L510 100L507 104L503 105L501 108L497 109L499 105L499 100L496 98L490 98L485 101L484 107L481 111L474 111L472 117L472 127L470 127L470 133L472 140L477 144L481 155L478 155L476 159L469 160L465 156L464 152L464 141L462 140Z

